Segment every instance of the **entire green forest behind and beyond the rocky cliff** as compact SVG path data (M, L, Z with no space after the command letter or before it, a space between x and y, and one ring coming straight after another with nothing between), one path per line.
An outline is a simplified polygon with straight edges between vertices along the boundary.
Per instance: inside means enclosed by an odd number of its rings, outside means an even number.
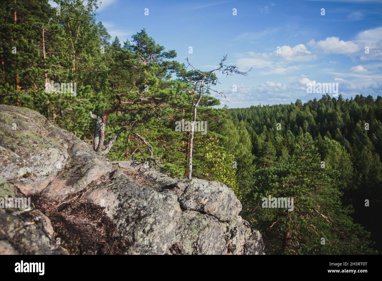
M145 29L110 43L95 0L57 2L59 15L47 0L2 1L1 104L37 110L112 161L229 185L267 254L382 251L382 97L219 109L217 74L249 70L227 56L211 71L180 63ZM45 91L51 81L76 95ZM208 122L206 134L175 130L183 119ZM293 211L262 208L269 196L293 198Z

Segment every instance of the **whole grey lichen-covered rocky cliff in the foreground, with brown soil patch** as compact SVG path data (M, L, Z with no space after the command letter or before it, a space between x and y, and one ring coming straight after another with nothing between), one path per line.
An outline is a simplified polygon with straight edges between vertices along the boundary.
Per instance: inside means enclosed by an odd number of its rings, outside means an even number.
M263 254L240 211L220 182L110 162L38 112L0 105L0 254Z

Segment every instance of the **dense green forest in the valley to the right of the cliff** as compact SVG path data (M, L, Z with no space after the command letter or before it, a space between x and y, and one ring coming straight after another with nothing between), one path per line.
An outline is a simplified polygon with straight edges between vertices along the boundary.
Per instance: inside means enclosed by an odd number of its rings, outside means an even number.
M377 231L365 219L365 208L372 213L381 208L381 97L343 100L341 95L324 95L305 104L298 100L228 111L236 128L244 124L252 142L251 170L238 169L237 175L243 216L263 231L269 253L380 249L371 242L379 241L377 235L370 236L353 221L363 222L373 234ZM295 210L262 208L262 198L269 195L294 197ZM364 206L366 199L370 207ZM325 245L320 244L322 237Z

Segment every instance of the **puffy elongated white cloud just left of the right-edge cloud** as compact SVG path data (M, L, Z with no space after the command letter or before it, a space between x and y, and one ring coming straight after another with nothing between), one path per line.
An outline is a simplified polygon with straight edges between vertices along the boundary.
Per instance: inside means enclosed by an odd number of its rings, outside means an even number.
M314 41L312 39L308 42L308 45L313 49L318 49L325 54L353 54L361 50L361 46L351 42L343 41L338 37L327 37L325 40Z

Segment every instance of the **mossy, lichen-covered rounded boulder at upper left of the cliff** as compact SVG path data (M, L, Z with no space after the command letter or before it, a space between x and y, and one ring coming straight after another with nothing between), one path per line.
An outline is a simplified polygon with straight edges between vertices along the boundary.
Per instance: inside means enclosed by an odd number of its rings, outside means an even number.
M106 158L38 112L0 105L0 177L25 195L62 201L111 170Z

